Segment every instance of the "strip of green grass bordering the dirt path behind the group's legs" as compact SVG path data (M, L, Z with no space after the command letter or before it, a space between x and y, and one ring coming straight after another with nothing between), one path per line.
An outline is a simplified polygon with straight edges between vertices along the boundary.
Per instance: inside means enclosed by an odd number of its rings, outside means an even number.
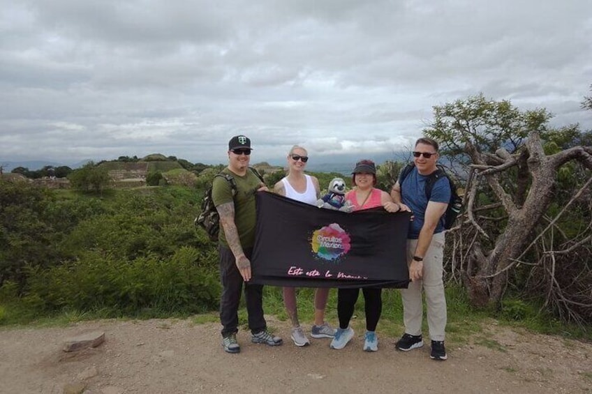
M561 335L565 338L565 344L568 347L573 347L575 344L571 340L590 340L589 331L581 327L569 324L562 324L559 326L558 321L552 319L548 315L539 312L536 305L525 308L521 319L513 319L504 316L502 312L495 312L491 310L476 310L471 306L468 297L464 290L460 287L449 286L446 289L448 321L446 326L446 340L452 346L459 346L468 343L468 338L475 338L474 342L489 349L505 352L506 349L502 344L496 340L492 340L484 331L484 327L490 326L492 321L494 324L500 326L510 326L514 328L522 328L533 333L545 333ZM273 315L280 321L288 320L288 315L283 305L283 294L280 287L265 287L263 294L266 315ZM297 306L298 316L302 325L309 328L314 320L314 289L297 289ZM331 289L329 299L327 301L327 310L325 320L329 321L334 326L337 326L337 290ZM526 305L526 304L525 304ZM90 312L77 312L66 310L57 312L52 315L34 316L31 312L22 309L21 307L0 303L0 327L1 326L20 326L23 324L35 326L66 326L74 321L85 321L93 319L105 318L119 318L119 319L149 319L149 318L180 318L186 319L189 317L183 313L171 313L168 311L158 310L142 310L133 316L125 316L117 314L113 310L94 310ZM198 315L191 315L193 324L217 323L219 315L216 311L204 311ZM239 309L239 324L242 329L248 329L246 308L244 306L244 297L242 305ZM358 333L365 331L364 319L364 297L362 291L358 298L354 310L354 317L351 321L351 326ZM269 326L270 331L275 331L276 328L272 324ZM403 326L403 305L401 303L401 293L398 289L384 289L383 290L383 313L378 323L378 335L383 338L397 339L404 333ZM427 319L424 319L424 334L427 335ZM592 379L592 372L583 372L586 379Z

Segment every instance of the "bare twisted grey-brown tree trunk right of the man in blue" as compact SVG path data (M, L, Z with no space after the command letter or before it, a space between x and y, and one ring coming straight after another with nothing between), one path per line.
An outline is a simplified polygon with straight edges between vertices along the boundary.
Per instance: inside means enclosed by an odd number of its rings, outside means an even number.
M474 305L499 305L508 271L524 255L525 248L531 241L533 232L547 207L552 202L555 175L558 167L570 160L578 160L587 168L592 168L592 147L575 146L572 149L546 156L537 132L531 132L526 142L526 163L531 175L530 190L521 206L521 198L515 198L506 192L498 181L498 174L510 167L519 165L520 158L512 156L497 158L478 152L467 144L467 151L474 163L477 176L483 176L491 190L508 212L508 225L496 238L494 248L482 250L480 243L473 243L468 255L468 268L463 275L463 282ZM523 156L524 158L524 156ZM524 185L517 185L518 190ZM478 187L473 182L471 187ZM471 210L473 207L468 206ZM474 223L476 226L477 223ZM482 230L481 230L482 231Z

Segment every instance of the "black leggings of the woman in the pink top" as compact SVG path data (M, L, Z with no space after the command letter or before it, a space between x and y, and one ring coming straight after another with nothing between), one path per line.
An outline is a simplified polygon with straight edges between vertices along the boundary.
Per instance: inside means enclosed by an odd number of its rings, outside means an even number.
M362 293L364 294L365 301L366 329L367 331L376 331L380 314L383 312L383 289L364 287ZM359 294L360 289L337 289L339 328L348 328Z

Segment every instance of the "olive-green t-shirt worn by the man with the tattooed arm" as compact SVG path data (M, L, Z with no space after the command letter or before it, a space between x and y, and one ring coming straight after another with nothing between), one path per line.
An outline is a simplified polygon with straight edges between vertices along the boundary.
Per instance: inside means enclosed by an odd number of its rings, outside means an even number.
M221 176L216 176L212 183L212 199L214 200L214 205L219 206L220 204L234 200L235 224L237 225L241 245L243 248L253 248L253 245L255 245L256 220L255 194L258 188L260 188L261 181L251 169L247 169L244 176L239 176L228 168L223 169L222 173L229 174L235 179L237 183L237 194L232 199L230 182ZM224 234L222 225L220 225L218 241L221 245L228 248L228 242L226 242L226 235Z

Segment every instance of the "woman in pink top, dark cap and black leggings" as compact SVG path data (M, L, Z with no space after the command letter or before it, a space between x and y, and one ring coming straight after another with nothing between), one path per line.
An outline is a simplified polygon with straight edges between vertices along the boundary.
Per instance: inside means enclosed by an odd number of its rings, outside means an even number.
M404 208L393 202L387 192L374 188L374 185L376 185L376 166L371 160L361 160L356 163L352 183L355 188L347 192L346 200L352 203L354 211L382 206L389 212L399 212L401 208ZM383 310L382 289L380 287L364 287L362 293L364 294L366 312L366 335L363 349L365 351L377 351L376 325ZM360 289L337 290L339 328L331 342L332 349L343 349L353 338L354 332L349 324L359 294Z

